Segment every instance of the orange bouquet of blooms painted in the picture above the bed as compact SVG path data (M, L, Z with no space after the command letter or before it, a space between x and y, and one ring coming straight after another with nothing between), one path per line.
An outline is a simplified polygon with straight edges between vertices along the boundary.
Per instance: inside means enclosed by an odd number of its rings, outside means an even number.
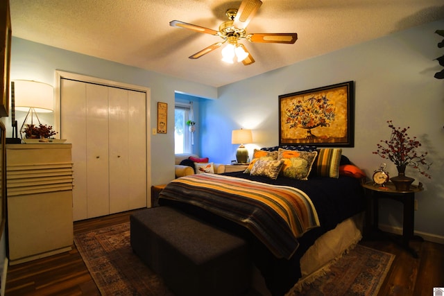
M298 98L287 108L289 128L316 128L328 126L336 115L334 105L325 95Z

